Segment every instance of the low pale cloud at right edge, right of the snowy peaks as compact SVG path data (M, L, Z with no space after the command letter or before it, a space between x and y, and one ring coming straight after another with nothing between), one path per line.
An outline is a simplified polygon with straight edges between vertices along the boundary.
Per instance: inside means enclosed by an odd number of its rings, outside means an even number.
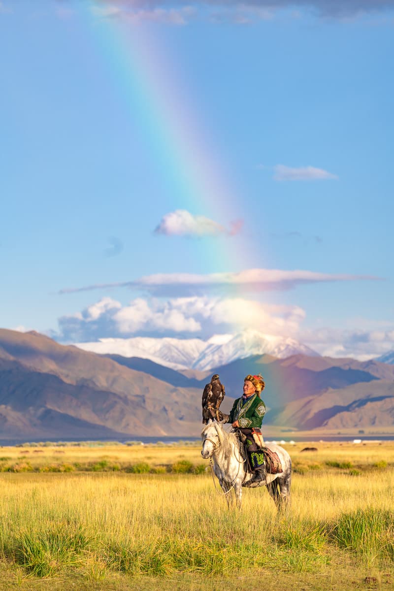
M394 327L388 330L321 328L304 331L303 342L321 355L366 361L394 349Z

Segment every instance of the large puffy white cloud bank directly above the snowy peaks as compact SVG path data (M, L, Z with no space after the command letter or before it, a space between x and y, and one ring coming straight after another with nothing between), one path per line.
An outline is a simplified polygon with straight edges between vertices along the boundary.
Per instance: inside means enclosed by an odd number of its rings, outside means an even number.
M157 300L136 298L126 306L103 298L82 312L58 320L63 342L131 336L199 336L253 328L292 336L305 317L298 306L262 304L244 298L189 297Z

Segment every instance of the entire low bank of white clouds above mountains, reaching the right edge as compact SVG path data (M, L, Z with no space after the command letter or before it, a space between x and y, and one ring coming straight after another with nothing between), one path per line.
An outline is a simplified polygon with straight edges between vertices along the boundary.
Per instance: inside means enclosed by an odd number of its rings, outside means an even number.
M320 355L364 361L394 349L394 325L370 329L305 330L305 311L294 305L265 304L242 297L135 298L126 306L103 298L82 311L59 319L63 342L92 342L133 336L227 339L256 330L265 335L292 337ZM371 324L373 324L371 322ZM24 330L24 327L18 327ZM227 336L226 336L227 335Z

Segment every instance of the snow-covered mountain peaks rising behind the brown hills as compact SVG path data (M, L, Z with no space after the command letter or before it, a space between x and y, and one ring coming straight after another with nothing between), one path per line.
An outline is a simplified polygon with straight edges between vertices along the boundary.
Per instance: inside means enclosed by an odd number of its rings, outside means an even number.
M151 359L172 369L207 369L226 365L236 359L268 353L279 359L291 355L318 356L318 353L290 337L263 335L245 330L237 335L214 335L209 340L133 337L131 339L100 339L76 346L94 353L112 353L123 357Z

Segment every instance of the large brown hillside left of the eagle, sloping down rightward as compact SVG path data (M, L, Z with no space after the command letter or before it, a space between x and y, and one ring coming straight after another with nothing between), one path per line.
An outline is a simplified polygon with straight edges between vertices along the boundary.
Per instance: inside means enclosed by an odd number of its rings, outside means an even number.
M73 433L81 434L88 426L129 436L200 434L199 389L172 387L37 333L0 330L0 346L4 437L49 437L53 431L69 437L71 419ZM54 413L56 428L48 418Z

